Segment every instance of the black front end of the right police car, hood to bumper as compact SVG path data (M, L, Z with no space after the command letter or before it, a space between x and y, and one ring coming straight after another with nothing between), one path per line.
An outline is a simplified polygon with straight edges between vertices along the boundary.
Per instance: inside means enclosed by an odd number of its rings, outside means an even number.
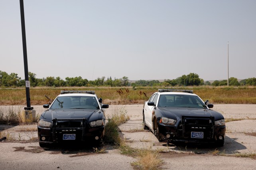
M169 111L172 112L171 116L166 116L170 114L161 114L166 118L163 116L158 118L158 128L162 139L170 142L224 144L225 120L218 112L195 108L184 110L169 108ZM177 112L182 114L179 115Z

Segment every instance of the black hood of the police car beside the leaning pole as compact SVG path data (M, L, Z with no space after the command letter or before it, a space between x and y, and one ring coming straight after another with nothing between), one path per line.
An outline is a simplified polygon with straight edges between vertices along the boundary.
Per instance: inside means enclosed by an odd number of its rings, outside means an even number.
M51 122L53 119L77 119L77 118L86 118L87 120L98 120L100 116L100 110L89 110L89 109L52 109L46 110L42 113L43 120ZM101 115L102 116L102 115Z

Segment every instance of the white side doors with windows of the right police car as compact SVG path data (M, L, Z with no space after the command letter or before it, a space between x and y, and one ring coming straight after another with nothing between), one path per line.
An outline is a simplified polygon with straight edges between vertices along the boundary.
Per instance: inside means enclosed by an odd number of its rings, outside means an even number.
M152 97L150 98L150 102L154 102L155 105L157 104L157 100L158 100L158 94L154 94L152 95ZM154 110L155 106L148 106L148 103L145 104L144 107L144 116L145 116L145 122L146 124L150 127L150 129L153 130L152 127L152 111Z

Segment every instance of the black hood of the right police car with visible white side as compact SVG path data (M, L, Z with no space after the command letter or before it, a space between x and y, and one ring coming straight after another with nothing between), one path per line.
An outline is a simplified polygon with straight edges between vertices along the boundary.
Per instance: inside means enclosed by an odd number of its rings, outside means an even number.
M159 107L159 109L165 114L167 118L181 119L181 116L197 116L197 117L215 117L215 120L224 119L223 115L211 109L203 108L170 108ZM164 115L163 114L163 115Z

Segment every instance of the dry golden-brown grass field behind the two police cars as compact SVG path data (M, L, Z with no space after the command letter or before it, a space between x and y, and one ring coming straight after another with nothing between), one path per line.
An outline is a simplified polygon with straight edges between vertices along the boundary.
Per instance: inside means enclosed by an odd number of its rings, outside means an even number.
M55 99L61 90L95 90L105 104L143 104L159 88L163 87L35 87L30 89L31 105L46 104ZM164 87L165 89L167 87ZM203 100L215 104L256 104L256 87L171 87L193 89ZM26 105L26 89L0 89L0 105Z

